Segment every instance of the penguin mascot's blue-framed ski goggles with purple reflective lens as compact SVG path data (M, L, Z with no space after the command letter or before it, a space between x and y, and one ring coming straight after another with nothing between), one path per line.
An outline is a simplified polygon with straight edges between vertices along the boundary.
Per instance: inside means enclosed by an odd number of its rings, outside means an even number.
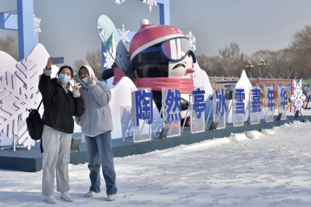
M160 46L148 47L141 53L146 52L160 52L168 62L174 63L182 61L187 55L189 55L189 57L191 55L193 63L197 62L197 59L192 51L192 47L187 37L174 37L165 40L161 43Z

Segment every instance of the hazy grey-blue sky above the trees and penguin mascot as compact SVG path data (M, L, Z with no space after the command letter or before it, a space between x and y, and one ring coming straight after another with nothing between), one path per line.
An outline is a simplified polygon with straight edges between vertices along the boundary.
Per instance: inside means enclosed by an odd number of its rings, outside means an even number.
M170 0L171 25L191 31L197 41L196 55L216 55L218 49L237 42L241 52L288 46L293 34L311 24L310 0ZM0 11L16 9L16 0L0 0ZM50 55L64 56L66 64L101 47L96 22L107 15L117 28L137 31L143 18L159 24L159 7L152 12L137 0L117 5L113 0L34 0L41 18L39 42ZM0 30L0 37L16 31Z

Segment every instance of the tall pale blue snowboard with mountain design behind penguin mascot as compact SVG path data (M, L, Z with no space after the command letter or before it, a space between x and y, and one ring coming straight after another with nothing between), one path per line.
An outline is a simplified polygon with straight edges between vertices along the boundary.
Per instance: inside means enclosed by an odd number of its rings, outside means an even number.
M111 55L118 67L133 80L128 50L122 42L118 29L108 16L100 15L97 20L97 31L109 55Z

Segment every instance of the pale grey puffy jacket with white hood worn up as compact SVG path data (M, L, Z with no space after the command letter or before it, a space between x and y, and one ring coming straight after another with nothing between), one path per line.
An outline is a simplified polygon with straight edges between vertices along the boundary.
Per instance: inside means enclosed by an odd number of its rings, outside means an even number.
M79 91L84 101L85 110L81 117L75 117L75 121L81 126L82 134L95 137L113 130L109 107L111 91L105 82L97 80L93 69L89 65L82 66L88 70L90 77L93 75L96 85L86 86L78 77L82 86Z

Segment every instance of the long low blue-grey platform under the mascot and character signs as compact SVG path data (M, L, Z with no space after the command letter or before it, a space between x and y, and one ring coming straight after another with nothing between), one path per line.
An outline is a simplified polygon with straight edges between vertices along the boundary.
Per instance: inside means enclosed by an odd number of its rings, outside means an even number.
M283 121L273 121L266 123L262 120L260 124L244 125L239 127L227 125L225 129L220 129L216 131L209 131L207 128L205 132L199 132L195 134L190 134L190 127L185 127L183 133L180 136L171 137L168 139L158 139L159 133L156 134L156 137L153 140L146 142L129 143L122 142L121 138L113 139L112 150L114 153L114 157L144 154L155 150L163 150L176 147L181 144L192 144L207 139L227 137L231 133L242 133L251 130L260 131L262 129L271 129L274 126L281 126L284 123L289 123L295 120L303 121L304 119L311 121L311 116L304 116L299 118L287 116L287 119ZM209 122L211 121L212 120L209 120ZM209 127L210 124L207 124L207 126ZM77 165L86 162L88 162L86 144L81 143L80 151L71 152L70 163ZM24 172L36 172L42 170L42 154L40 153L39 143L36 143L36 146L31 150L24 150L18 148L16 148L16 152L13 152L12 149L0 150L0 169Z

